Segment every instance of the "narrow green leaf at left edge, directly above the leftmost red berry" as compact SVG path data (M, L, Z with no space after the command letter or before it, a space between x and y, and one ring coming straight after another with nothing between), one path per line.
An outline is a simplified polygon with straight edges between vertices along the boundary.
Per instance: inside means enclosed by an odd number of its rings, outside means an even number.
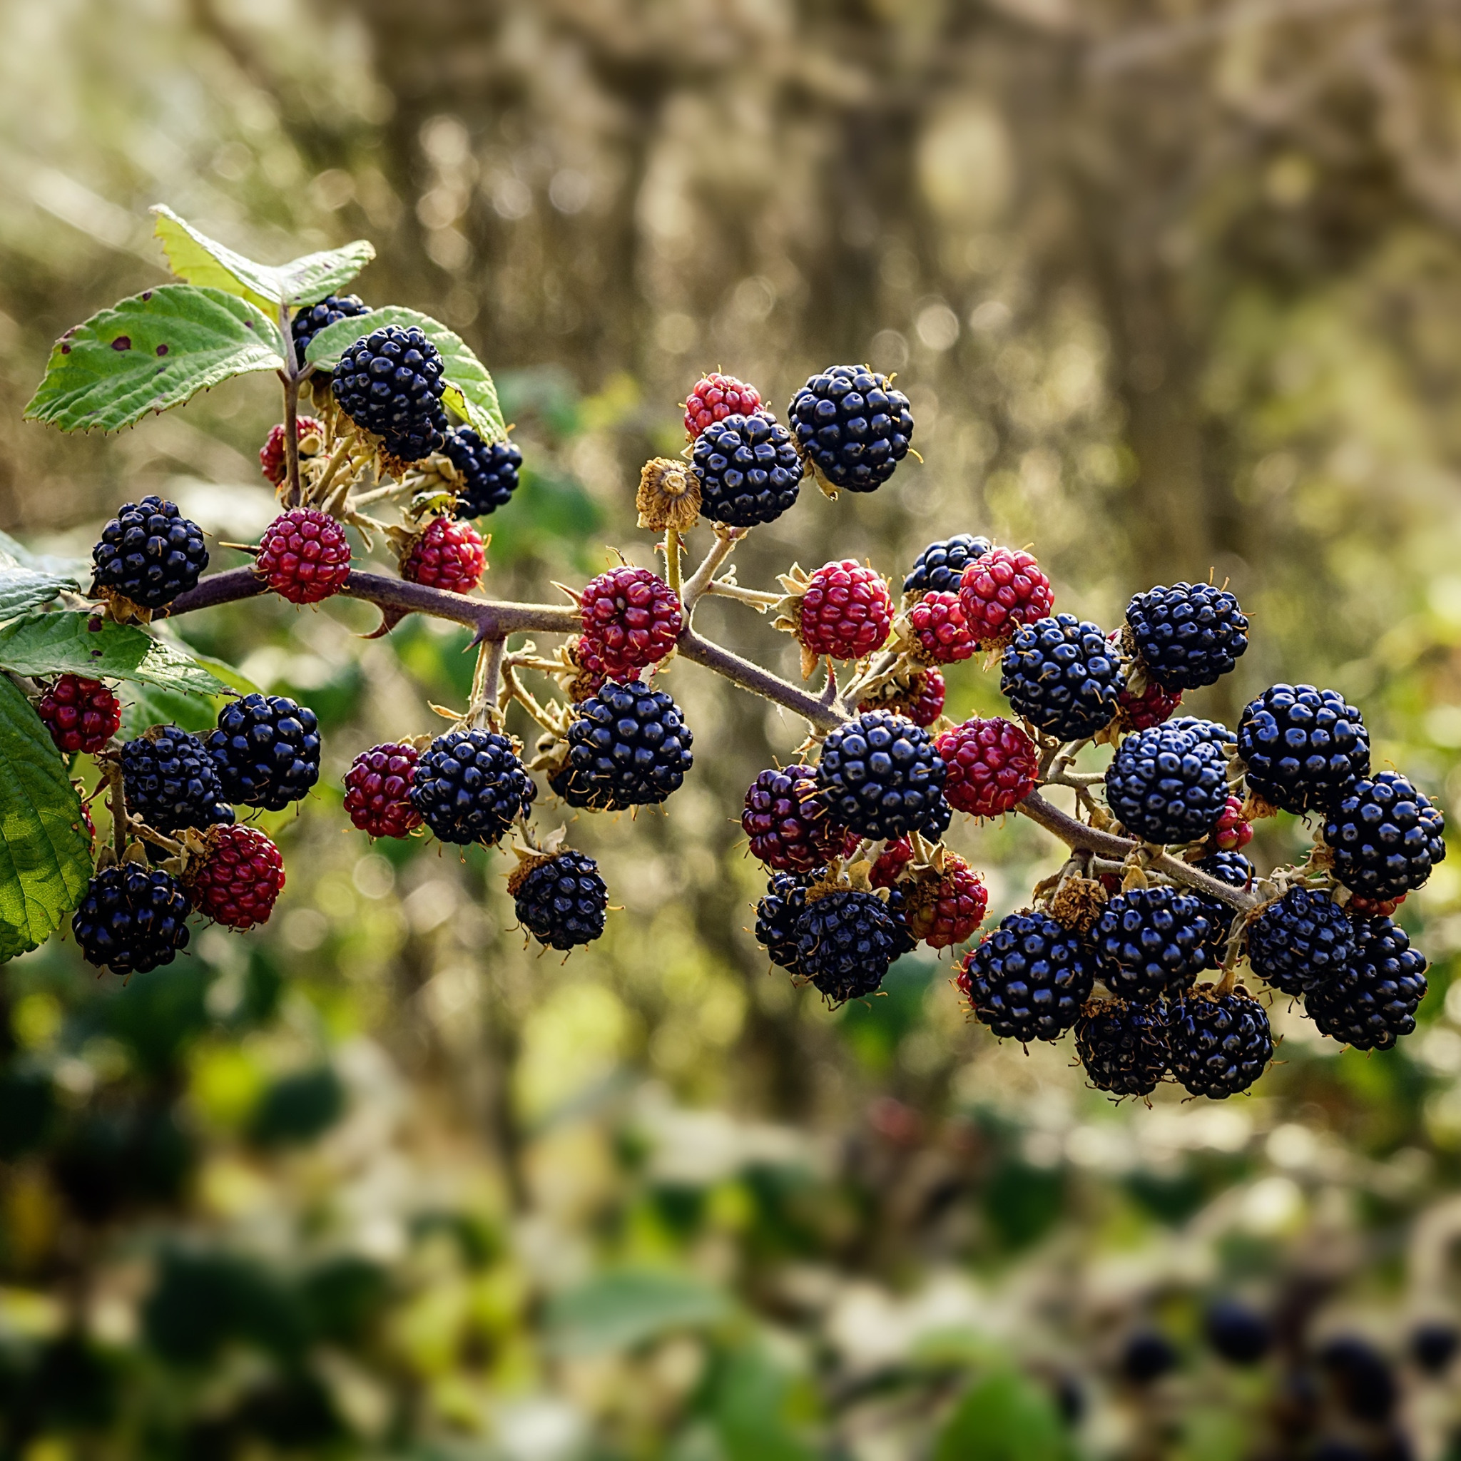
M0 628L0 668L18 675L139 679L194 695L218 695L228 690L191 655L134 624L117 624L72 609L29 614Z

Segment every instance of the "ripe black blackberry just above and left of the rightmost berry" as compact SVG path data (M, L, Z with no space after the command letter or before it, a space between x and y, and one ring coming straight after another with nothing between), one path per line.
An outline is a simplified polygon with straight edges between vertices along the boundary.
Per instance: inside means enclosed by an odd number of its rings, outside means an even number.
M1322 811L1369 771L1369 730L1337 690L1270 685L1237 720L1248 789L1287 812Z

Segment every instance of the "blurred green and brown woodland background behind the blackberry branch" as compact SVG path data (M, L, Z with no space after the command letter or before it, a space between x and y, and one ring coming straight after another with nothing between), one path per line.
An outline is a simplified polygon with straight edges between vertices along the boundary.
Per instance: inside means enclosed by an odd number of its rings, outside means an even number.
M1461 801L1454 6L4 0L0 526L50 551L146 491L225 539L272 511L266 381L108 440L20 421L53 337L161 278L153 202L267 260L368 237L367 301L478 349L527 463L494 595L653 561L637 470L701 371L780 408L868 359L923 462L805 492L744 583L980 530L1110 625L1213 571L1254 643L1194 710L1334 685ZM793 672L741 605L701 622ZM966 1023L948 960L839 1012L768 972L735 815L798 730L691 665L668 814L570 825L622 912L524 951L503 855L342 830L355 751L469 676L453 628L368 628L177 625L326 728L266 818L267 931L126 988L64 942L0 974L0 1455L1461 1454L1455 1372L1410 1359L1461 1316L1461 861L1403 910L1433 963L1400 1049L1280 1001L1251 1097L1113 1107L1068 1045ZM1056 865L1018 820L955 839L992 913ZM1202 1343L1224 1296L1273 1318L1255 1369ZM1178 1365L1143 1386L1147 1331ZM1315 1366L1335 1337L1382 1379Z

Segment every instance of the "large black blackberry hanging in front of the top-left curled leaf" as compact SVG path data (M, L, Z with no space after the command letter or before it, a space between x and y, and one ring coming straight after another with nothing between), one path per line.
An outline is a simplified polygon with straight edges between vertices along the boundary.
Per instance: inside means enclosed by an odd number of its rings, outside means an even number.
M415 324L387 324L356 340L340 356L330 384L345 415L381 437L402 462L443 446L441 352Z

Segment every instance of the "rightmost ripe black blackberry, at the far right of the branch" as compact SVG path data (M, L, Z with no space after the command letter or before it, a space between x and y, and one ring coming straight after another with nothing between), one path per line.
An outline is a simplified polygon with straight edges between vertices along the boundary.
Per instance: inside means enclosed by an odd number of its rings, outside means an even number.
M1398 771L1376 771L1346 787L1330 809L1324 840L1334 877L1367 899L1419 888L1446 855L1446 820Z

